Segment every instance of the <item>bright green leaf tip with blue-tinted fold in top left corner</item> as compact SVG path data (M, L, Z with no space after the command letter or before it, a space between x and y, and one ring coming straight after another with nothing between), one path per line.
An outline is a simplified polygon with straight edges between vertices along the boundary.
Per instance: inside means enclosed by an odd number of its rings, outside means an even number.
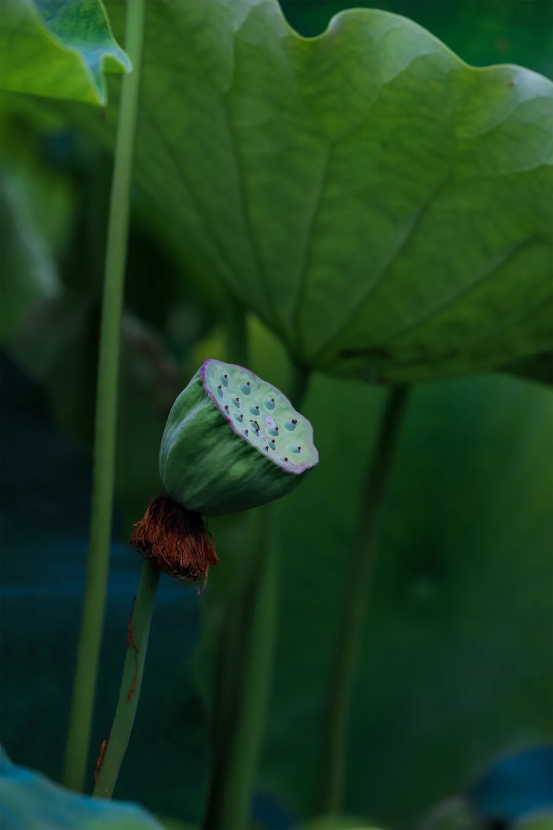
M0 89L104 105L108 58L130 71L100 0L2 0Z

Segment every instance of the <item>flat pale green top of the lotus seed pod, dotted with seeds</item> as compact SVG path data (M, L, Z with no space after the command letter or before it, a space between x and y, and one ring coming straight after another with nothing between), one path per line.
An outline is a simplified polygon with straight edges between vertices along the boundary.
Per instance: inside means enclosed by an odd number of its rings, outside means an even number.
M200 369L206 392L230 427L289 473L318 464L313 427L289 399L250 369L208 359Z

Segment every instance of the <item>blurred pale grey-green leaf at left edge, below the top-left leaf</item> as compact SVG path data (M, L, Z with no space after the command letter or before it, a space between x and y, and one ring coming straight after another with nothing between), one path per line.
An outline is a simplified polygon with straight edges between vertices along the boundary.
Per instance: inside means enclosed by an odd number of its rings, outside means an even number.
M40 300L61 290L46 242L29 216L17 185L0 177L0 341L22 325Z

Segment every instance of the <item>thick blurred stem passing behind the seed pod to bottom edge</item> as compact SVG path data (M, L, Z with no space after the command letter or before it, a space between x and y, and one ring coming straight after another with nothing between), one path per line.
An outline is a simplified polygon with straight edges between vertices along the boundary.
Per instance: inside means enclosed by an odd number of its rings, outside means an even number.
M306 371L294 370L289 397L301 408ZM243 830L269 707L279 592L278 506L252 510L250 549L221 628L213 701L211 783L206 830Z

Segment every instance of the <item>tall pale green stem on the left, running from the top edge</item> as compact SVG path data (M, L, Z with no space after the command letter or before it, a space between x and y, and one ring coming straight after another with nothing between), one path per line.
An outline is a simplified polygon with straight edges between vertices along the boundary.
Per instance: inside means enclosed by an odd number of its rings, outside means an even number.
M65 786L77 790L82 790L85 784L108 581L114 498L119 337L129 236L129 191L138 109L144 5L145 0L129 0L128 3L125 45L134 68L123 79L109 209L99 337L90 544L63 776Z

